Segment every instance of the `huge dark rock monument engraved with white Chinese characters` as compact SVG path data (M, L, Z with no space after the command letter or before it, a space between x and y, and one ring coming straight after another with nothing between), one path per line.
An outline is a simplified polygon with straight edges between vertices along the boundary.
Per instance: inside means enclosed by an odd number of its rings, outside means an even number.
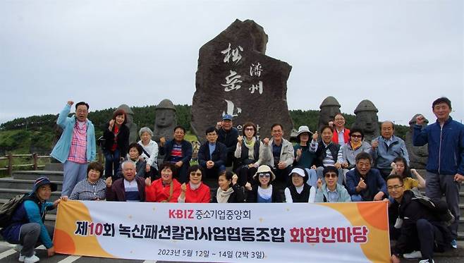
M265 55L267 39L254 21L236 20L200 48L191 122L200 141L224 114L233 116L239 130L246 121L257 124L260 138L270 136L273 123L281 123L284 136L290 136L291 66Z

